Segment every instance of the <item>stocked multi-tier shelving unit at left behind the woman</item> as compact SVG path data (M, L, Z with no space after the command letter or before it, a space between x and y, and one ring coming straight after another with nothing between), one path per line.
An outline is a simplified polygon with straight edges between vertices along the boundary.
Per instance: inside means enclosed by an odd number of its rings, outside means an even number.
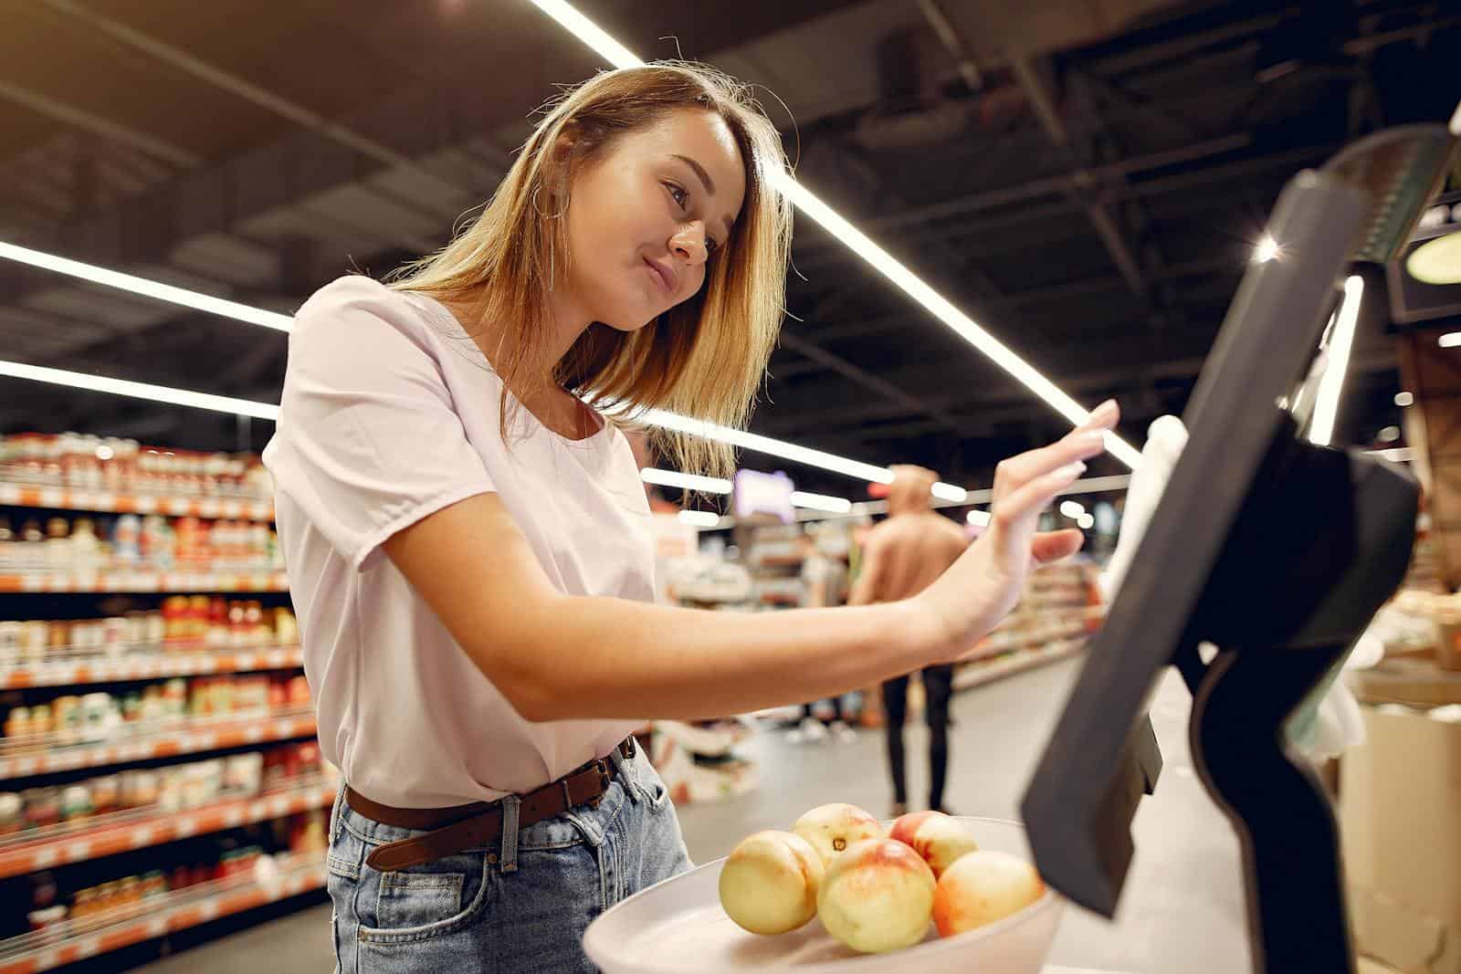
M288 742L314 737L316 718L307 705L281 705L282 697L270 701L272 708L232 710L241 705L243 698L222 697L216 699L224 702L216 704L212 695L218 685L210 680L221 675L224 686L219 692L232 694L243 691L229 689L226 683L231 678L226 675L269 672L275 676L259 679L278 683L281 672L288 676L301 670L304 657L295 641L292 619L286 632L282 622L275 628L272 615L262 618L254 612L248 622L224 622L222 628L218 618L209 615L196 624L202 629L188 632L181 626L202 616L168 615L171 607L158 597L193 596L196 602L197 596L212 596L210 603L216 606L225 593L288 593L286 575L276 570L275 540L272 534L266 537L263 527L273 521L275 507L269 498L248 492L256 483L219 480L215 488L209 480L196 492L159 494L96 489L102 482L99 478L77 488L76 479L63 485L64 478L51 476L41 482L28 476L16 464L0 467L0 514L18 526L22 518L44 523L61 517L73 521L77 532L86 530L79 526L79 518L92 520L98 530L89 545L101 542L101 555L92 548L77 548L91 553L85 559L82 555L61 555L56 561L48 548L50 533L45 549L37 548L34 540L16 537L7 553L0 552L4 555L0 556L0 621L25 625L19 647L13 638L0 644L0 714L6 713L6 704L32 710L48 707L56 713L56 723L47 724L51 727L47 733L26 733L23 718L19 718L19 735L0 737L0 793L19 791L23 808L37 810L34 818L20 824L20 831L10 834L4 834L6 822L0 821L0 901L7 910L12 904L18 905L20 916L15 919L23 923L25 911L32 908L23 905L31 902L31 889L50 883L57 891L56 898L37 898L35 908L56 902L76 911L60 921L41 921L45 926L32 933L0 939L0 974L34 974L64 967L321 889L324 857L313 850L318 845L321 829L318 816L327 812L337 789L337 780L327 767L323 772L313 772L314 765L307 764L302 771L291 771L282 778L266 775L264 787L272 790L263 793L251 791L259 787L257 778L253 784L237 784L229 777L222 789L212 784L199 791L164 791L140 808L101 815L76 813L69 810L76 808L70 805L61 821L47 819L39 812L47 806L31 805L32 800L56 800L39 796L54 796L58 790L102 787L102 781L115 780L118 774L126 780L133 774L167 772L172 775L171 781L177 775L205 774L202 770L213 764L212 755L219 752L273 753L282 748L292 755L294 745ZM117 482L108 475L108 483ZM183 480L177 480L177 486L184 486ZM187 486L191 488L191 482ZM76 513L75 517L70 513ZM108 545L99 529L111 523L111 515L118 515L118 520ZM136 534L130 536L130 555L121 555L121 527L130 520L127 515L142 518L140 558ZM156 524L161 533L146 534L149 524ZM131 530L136 530L134 521ZM260 537L266 537L267 546ZM162 545L161 556L158 543ZM41 551L47 564L37 553ZM229 606L240 605L260 607L259 602L229 600ZM279 606L281 602L264 600L262 605ZM273 609L264 612L273 613ZM140 629L120 625L120 616L143 613L162 613L165 632L159 628L153 634L149 626L143 637ZM174 621L180 625L177 632ZM112 622L120 626L120 640ZM136 618L127 622L136 622ZM32 626L41 626L38 638ZM75 640L67 635L75 635ZM146 718L127 710L121 723L108 723L117 720L115 707L121 704L123 694L129 707L142 689L152 701L153 688L139 689L137 683L178 679L188 680L186 692L194 697L187 705L196 716L153 717L156 711L149 702ZM257 683L248 683L256 678L240 679L243 682L234 683L235 688L257 688ZM127 683L133 686L118 686ZM75 699L101 692L114 695L112 717L99 726L60 724L61 697L73 698L70 707L75 707ZM178 710L168 713L178 714L184 704L171 699ZM248 699L253 704L256 698ZM291 699L300 698L291 695ZM226 713L205 716L215 705ZM75 711L67 710L67 714L75 716ZM194 758L188 759L190 755ZM180 762L174 759L187 762L188 768L177 767ZM112 767L115 770L110 770ZM105 777L76 774L94 768L102 770L99 774ZM15 802L13 797L9 800ZM283 821L291 816L300 818ZM307 832L304 838L291 831L301 828ZM288 841L279 838L285 832ZM264 841L263 848L311 851L262 856L259 866L247 873L199 882L202 876L232 870L226 850L250 845L248 837L254 837L253 844L257 845L260 835L275 837ZM139 850L145 853L140 857ZM219 856L224 866L216 866ZM124 873L153 869L153 860L180 863L177 869L188 878L174 875L171 891L165 891L165 881L152 883L150 895L142 898L105 892L120 888ZM136 889L136 876L126 878L129 889ZM89 908L83 910L82 898L92 895L98 898L88 900ZM114 905L118 902L126 905ZM39 916L34 914L32 921ZM7 924L7 932L19 929L23 927Z

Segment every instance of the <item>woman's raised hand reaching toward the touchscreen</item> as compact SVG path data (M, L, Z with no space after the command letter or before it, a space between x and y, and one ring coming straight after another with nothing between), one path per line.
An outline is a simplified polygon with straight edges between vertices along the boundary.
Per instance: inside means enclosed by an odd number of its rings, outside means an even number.
M1086 425L1059 442L1011 457L995 469L989 526L938 581L913 597L935 621L941 660L954 660L1004 619L1036 565L1081 549L1078 530L1036 532L1040 513L1086 472L1086 460L1106 450L1106 432L1121 410L1107 400Z

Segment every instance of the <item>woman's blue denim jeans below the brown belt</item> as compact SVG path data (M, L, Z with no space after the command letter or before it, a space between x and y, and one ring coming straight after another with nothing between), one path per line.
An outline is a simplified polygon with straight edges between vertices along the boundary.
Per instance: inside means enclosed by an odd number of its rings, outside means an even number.
M365 857L421 832L352 812L342 791L327 860L336 971L595 971L583 954L589 921L691 864L675 806L643 751L612 759L618 774L599 808L519 829L508 796L503 835L516 841L400 872L377 872Z

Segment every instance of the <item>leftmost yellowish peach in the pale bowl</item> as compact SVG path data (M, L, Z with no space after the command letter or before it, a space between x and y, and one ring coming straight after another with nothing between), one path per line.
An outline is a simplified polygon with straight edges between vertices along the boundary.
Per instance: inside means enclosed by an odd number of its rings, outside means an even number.
M720 905L751 933L787 933L817 916L823 863L805 838L767 829L741 840L720 869Z

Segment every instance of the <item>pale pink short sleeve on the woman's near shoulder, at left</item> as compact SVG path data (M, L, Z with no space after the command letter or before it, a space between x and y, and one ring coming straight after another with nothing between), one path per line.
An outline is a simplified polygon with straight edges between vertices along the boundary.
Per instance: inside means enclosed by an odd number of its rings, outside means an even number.
M264 464L352 568L374 567L403 527L494 489L438 348L422 312L368 277L321 288L295 315Z

